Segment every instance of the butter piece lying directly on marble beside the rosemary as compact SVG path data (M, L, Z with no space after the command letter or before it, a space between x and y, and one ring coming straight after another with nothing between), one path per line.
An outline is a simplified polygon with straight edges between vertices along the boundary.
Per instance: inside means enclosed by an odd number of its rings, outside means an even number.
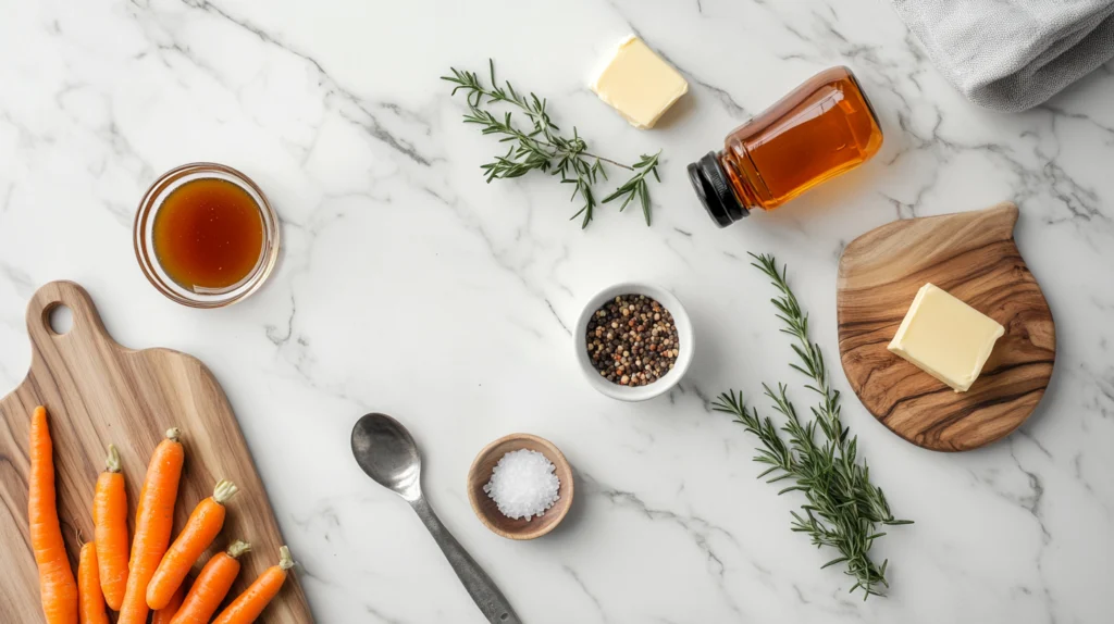
M673 102L688 92L681 72L634 34L619 43L592 90L636 128L653 128Z

